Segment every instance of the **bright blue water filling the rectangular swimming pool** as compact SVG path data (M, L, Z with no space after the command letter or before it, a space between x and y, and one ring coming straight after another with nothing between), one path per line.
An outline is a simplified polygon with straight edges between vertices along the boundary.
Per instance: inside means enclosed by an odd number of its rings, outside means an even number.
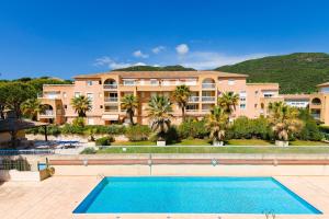
M272 177L105 177L75 214L321 214Z

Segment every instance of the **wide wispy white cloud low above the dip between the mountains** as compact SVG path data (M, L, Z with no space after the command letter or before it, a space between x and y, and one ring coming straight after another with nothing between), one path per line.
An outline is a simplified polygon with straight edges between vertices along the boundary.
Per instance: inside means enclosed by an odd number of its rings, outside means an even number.
M228 56L215 51L193 51L180 59L180 65L198 70L214 69L225 65L232 65L248 59L261 58L269 54L249 54Z

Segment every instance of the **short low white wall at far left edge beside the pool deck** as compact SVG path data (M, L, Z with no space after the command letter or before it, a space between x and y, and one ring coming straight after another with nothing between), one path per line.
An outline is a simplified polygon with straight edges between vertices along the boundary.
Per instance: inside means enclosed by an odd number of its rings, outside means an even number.
M0 181L41 181L38 171L0 170Z

